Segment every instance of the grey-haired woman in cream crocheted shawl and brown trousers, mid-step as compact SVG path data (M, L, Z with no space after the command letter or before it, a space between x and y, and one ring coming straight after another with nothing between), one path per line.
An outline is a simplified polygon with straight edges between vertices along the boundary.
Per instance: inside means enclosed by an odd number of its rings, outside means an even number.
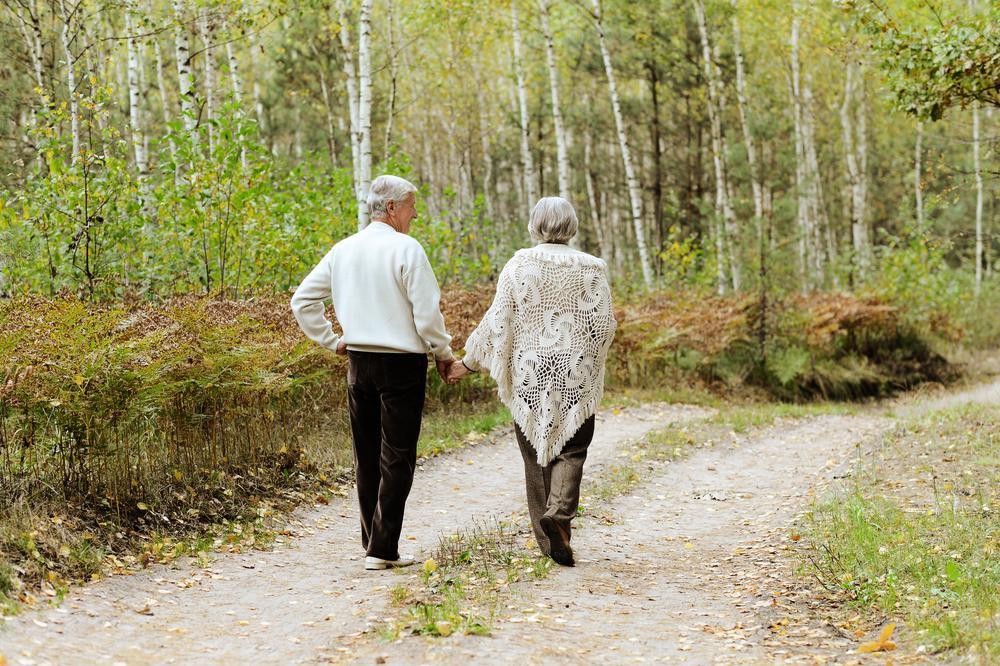
M580 502L604 361L615 331L604 261L567 243L576 211L541 199L528 231L535 247L504 266L496 296L449 380L485 368L514 417L531 525L542 552L573 566L570 523Z

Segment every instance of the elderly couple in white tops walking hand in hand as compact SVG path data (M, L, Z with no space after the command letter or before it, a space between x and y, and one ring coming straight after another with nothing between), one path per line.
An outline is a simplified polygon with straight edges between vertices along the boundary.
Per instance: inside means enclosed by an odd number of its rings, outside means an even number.
M413 563L398 547L416 468L428 353L449 384L480 369L496 381L514 418L538 546L572 566L570 523L616 326L607 267L568 245L579 226L568 201L539 200L528 223L536 245L518 250L504 266L493 303L458 360L430 262L408 235L417 219L416 191L396 176L376 178L368 194L371 224L334 245L291 303L307 336L348 357L365 568ZM340 335L325 316L331 297Z

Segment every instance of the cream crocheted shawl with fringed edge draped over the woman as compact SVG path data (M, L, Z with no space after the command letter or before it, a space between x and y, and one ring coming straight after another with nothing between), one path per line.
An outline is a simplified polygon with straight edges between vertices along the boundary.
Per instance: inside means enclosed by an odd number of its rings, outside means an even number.
M614 337L607 265L563 245L519 250L493 304L465 343L489 370L545 466L596 411Z

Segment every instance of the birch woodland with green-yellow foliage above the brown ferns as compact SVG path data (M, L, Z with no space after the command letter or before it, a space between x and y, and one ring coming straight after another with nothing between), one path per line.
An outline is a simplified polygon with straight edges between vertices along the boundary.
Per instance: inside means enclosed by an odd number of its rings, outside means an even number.
M985 4L2 4L7 295L284 291L382 172L446 285L551 194L621 291L960 300L997 261Z

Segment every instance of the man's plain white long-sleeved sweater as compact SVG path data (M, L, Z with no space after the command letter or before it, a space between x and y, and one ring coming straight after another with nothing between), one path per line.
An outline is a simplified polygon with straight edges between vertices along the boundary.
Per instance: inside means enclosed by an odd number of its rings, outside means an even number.
M323 301L331 296L340 336L324 313ZM346 342L354 351L432 352L446 361L454 355L440 301L420 243L372 222L327 252L295 290L292 312L309 338L333 351Z

